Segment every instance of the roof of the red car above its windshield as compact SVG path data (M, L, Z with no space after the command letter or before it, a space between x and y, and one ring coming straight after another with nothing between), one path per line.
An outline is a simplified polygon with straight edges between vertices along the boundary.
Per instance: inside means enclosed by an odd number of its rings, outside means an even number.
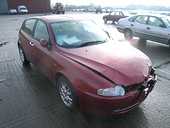
M45 15L45 16L36 16L36 17L31 17L31 18L41 19L45 21L46 23L84 19L84 18L77 18L77 16L68 16L68 15Z

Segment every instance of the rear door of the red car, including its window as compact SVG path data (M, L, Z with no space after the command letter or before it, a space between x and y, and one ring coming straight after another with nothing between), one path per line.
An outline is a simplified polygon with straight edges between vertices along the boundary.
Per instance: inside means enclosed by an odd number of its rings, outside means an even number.
M18 43L24 50L24 53L28 60L32 62L31 53L33 50L33 31L36 24L36 19L25 20L22 24L21 30L19 32L19 41Z

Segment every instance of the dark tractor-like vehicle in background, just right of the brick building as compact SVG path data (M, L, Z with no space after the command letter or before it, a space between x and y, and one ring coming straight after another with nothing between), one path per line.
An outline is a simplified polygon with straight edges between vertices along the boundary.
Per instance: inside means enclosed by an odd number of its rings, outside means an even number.
M65 13L64 5L62 3L56 3L52 12L54 14L64 14Z

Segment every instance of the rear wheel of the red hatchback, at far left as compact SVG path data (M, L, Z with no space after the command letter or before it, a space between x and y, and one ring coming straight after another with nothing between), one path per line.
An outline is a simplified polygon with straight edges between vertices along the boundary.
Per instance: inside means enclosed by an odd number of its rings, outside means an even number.
M19 45L18 45L18 50L19 50L19 56L20 56L20 60L21 60L22 64L24 66L28 66L30 64L30 62L27 60L24 50Z

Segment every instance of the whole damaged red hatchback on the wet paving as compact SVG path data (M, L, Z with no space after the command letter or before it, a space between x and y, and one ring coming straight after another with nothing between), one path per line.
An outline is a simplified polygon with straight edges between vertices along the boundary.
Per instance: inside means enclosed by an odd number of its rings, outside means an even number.
M30 62L54 82L63 104L96 114L122 114L151 92L156 75L141 51L116 42L92 21L41 16L19 31L24 65Z

